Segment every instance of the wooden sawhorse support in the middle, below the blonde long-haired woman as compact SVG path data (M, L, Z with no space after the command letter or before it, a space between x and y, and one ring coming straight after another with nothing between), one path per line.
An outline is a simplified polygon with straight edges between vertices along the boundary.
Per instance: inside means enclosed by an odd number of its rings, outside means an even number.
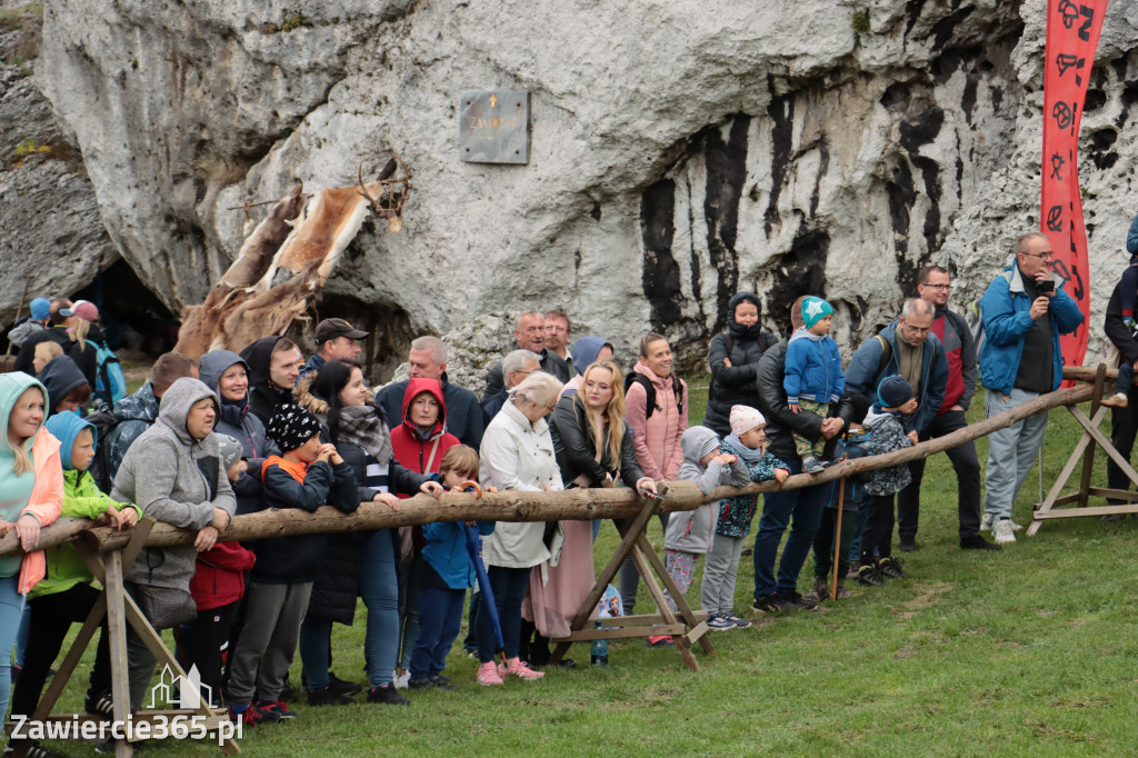
M622 537L620 546L617 547L617 552L609 560L601 575L596 577L596 585L588 593L585 602L582 603L580 610L577 611L572 624L569 625L569 636L553 640L553 642L558 643L558 646L553 649L550 664L556 664L561 660L561 657L569 651L569 646L574 642L649 637L666 634L671 635L676 643L676 650L679 651L679 656L684 659L684 665L692 670L699 670L700 668L700 665L695 662L695 656L692 654L692 644L699 642L703 648L703 652L709 656L715 654L715 646L707 638L707 611L692 611L683 593L679 592L676 583L671 580L663 563L660 562L660 557L652 549L652 543L644 535L644 526L653 513L655 513L655 502L645 499L644 505L635 518L632 520L617 519L613 521ZM613 628L591 628L589 617L596 609L596 603L600 602L601 595L604 594L605 588L609 586L609 582L616 576L620 566L625 562L625 558L628 555L632 555L633 561L636 563L636 569L640 571L641 578L644 579L649 594L655 601L659 612L605 618L604 624ZM663 591L660 590L657 577L663 582L665 588L667 588L671 599L676 602L677 611L674 612L671 610Z

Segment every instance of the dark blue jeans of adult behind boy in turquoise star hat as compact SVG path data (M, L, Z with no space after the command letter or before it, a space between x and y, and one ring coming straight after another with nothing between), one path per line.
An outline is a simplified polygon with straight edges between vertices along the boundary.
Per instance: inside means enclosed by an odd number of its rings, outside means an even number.
M797 458L786 461L791 476L801 473L802 462ZM754 536L754 599L758 600L776 592L794 592L798 590L798 575L806 563L814 545L814 534L822 521L822 511L830 502L830 483L787 489L785 492L768 492L762 496L762 518L759 519L759 532ZM793 524L791 524L793 517ZM775 580L775 559L778 555L778 543L782 542L786 525L791 524L790 538L783 549L782 561L778 563L778 579Z

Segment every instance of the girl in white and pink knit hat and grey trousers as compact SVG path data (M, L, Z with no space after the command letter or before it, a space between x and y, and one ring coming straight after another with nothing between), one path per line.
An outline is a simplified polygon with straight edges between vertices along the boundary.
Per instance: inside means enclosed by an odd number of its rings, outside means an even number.
M790 467L766 451L767 426L762 414L750 405L731 409L731 434L723 440L723 452L741 460L751 481L775 479L780 484L790 476ZM701 598L708 611L708 628L715 632L745 629L750 621L735 616L735 579L743 539L751 530L758 506L758 495L724 497L719 501L719 521L715 542L703 565Z

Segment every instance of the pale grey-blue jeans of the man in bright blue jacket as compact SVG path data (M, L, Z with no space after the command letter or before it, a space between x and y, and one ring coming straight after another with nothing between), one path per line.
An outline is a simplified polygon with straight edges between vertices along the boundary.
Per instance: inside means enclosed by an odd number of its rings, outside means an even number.
M984 417L990 419L1037 397L1037 393L1022 389L1013 389L1008 395L989 392L984 395ZM988 435L984 510L993 520L1012 518L1012 504L1036 464L1046 429L1047 413L1037 413Z

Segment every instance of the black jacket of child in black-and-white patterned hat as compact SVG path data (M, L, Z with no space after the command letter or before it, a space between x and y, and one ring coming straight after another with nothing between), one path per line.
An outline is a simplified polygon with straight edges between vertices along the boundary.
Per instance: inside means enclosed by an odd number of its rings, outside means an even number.
M345 513L360 508L355 479L346 463L330 465L316 462L308 467L304 484L279 465L265 468L264 500L266 508L298 508L310 513L328 503ZM314 582L324 561L328 535L302 534L263 539L257 543L257 563L251 580L264 584L302 584Z

